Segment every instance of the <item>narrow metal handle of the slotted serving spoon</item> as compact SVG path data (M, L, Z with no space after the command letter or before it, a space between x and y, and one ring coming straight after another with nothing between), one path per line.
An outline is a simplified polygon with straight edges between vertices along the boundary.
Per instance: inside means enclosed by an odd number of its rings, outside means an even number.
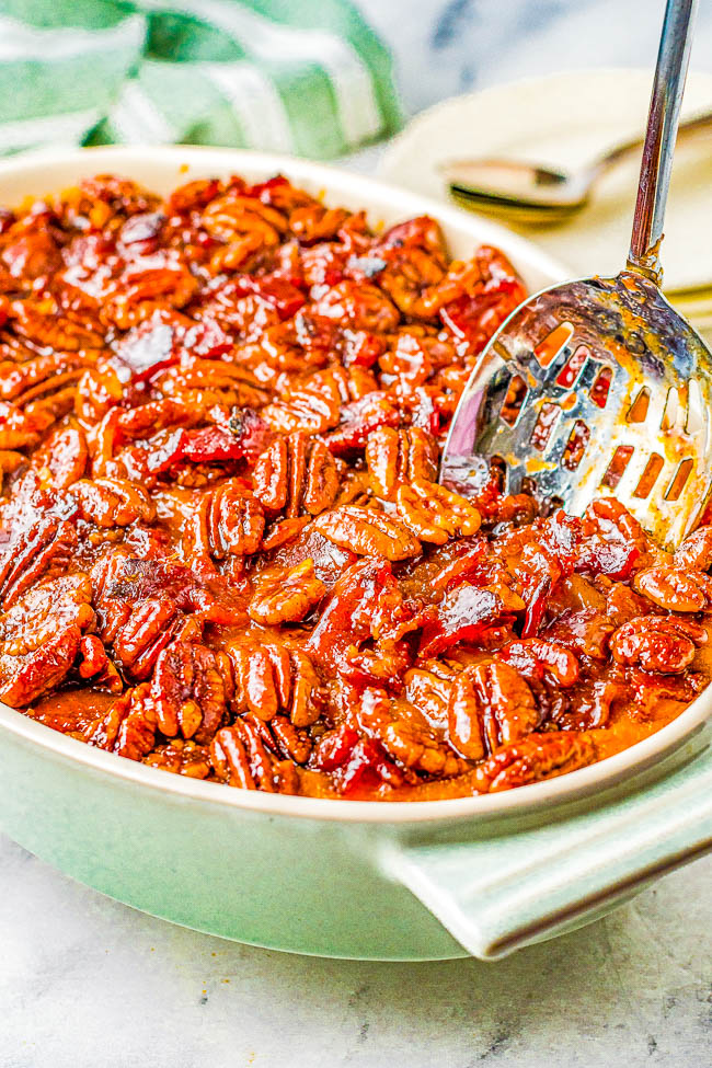
M663 280L659 244L697 0L667 0L655 67L628 266Z

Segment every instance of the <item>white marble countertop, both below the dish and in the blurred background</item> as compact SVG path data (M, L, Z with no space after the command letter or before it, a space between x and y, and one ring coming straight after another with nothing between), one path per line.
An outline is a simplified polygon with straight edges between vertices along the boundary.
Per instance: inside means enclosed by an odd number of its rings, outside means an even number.
M576 64L650 65L663 8L359 2L394 47L411 112ZM692 62L712 69L712 4L701 7ZM587 930L490 965L238 945L101 897L2 836L0 873L0 1068L712 1064L712 858Z

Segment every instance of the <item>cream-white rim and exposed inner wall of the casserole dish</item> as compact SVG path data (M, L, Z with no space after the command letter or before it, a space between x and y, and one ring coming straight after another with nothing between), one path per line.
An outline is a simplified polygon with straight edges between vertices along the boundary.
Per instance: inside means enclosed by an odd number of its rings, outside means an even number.
M312 194L323 195L328 203L353 209L365 208L371 226L375 227L390 226L417 215L433 215L443 226L453 257L470 256L479 244L497 245L512 259L530 290L561 282L565 277L565 272L555 261L524 238L510 233L495 222L336 168L261 152L180 146L43 151L0 163L0 206L18 206L27 197L42 197L74 185L82 177L100 173L115 173L134 179L161 194L197 177L237 173L248 180L257 181L283 173ZM504 815L517 809L531 812L544 805L594 793L620 782L680 746L701 727L711 711L712 687L656 734L588 768L502 794L382 804L267 794L168 774L160 769L149 768L69 738L3 704L0 704L0 728L50 750L60 759L69 759L151 790L170 791L213 804L274 815L348 823L403 824L451 820L476 814Z

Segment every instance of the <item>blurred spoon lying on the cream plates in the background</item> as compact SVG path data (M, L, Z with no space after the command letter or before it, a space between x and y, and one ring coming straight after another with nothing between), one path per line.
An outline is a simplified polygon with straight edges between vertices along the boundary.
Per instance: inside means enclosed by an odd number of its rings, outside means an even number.
M712 137L712 112L680 124L678 138L703 133ZM585 207L598 180L642 147L643 138L636 137L570 172L494 157L449 160L439 170L451 196L463 207L515 222L546 225L569 219Z

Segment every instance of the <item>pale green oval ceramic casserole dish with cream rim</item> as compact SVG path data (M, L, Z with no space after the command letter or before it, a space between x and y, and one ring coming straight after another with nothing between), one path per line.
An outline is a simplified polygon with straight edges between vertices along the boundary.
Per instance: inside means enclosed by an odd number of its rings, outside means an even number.
M42 153L0 166L0 203L115 172L168 192L278 171L392 223L436 216L455 256L498 245L530 288L564 271L506 230L303 160L196 148ZM600 763L518 790L379 804L166 774L0 705L0 824L74 878L197 930L325 956L495 958L604 915L712 847L712 691Z

